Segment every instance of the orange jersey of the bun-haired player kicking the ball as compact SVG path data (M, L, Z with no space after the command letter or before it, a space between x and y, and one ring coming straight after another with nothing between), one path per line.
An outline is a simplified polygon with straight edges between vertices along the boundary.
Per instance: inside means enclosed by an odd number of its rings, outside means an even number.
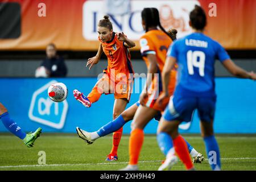
M117 39L115 32L113 32L112 40L105 43L101 42L101 44L105 55L108 57L108 68L106 69L108 76L112 80L115 78L115 82L119 82L121 80L118 78L121 76L119 73L122 73L128 79L129 73L134 73L129 48L124 45L124 42ZM118 77L116 77L117 75Z

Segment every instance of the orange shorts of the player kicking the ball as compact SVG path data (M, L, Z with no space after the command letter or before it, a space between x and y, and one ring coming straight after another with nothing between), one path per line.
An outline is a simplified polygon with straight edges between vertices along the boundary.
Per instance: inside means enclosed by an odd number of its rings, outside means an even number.
M115 99L125 98L129 102L131 92L133 91L133 75L129 76L128 74L126 74L125 78L122 79L116 78L115 76L109 76L110 74L108 74L106 70L104 70L103 73L104 76L101 77L101 80L104 81L104 93L114 94Z

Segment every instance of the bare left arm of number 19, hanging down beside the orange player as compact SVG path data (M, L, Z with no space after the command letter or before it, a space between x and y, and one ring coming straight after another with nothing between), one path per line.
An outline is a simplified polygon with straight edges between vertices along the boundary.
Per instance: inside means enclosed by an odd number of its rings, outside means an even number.
M172 56L168 56L166 59L166 63L164 64L164 67L163 67L162 85L163 85L163 92L165 97L169 96L168 85L170 82L170 73L172 68L174 68L175 63L176 63L176 58Z

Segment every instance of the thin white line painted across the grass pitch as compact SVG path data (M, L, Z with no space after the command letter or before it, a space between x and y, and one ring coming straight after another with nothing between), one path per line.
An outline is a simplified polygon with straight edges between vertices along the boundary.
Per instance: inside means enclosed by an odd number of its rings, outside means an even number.
M221 160L245 160L245 159L256 159L256 158L221 158ZM208 160L208 159L205 159ZM145 160L139 163L155 163L162 162L162 160ZM128 162L114 162L114 163L85 163L85 164L45 164L45 165L19 165L19 166L0 166L0 168L22 168L22 167L49 167L49 166L88 166L88 165L109 165L109 164L127 164Z

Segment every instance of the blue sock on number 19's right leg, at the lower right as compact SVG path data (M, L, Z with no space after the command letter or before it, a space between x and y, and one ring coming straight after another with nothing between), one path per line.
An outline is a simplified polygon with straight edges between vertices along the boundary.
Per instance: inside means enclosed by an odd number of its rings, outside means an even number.
M212 167L213 170L220 169L221 168L220 150L218 149L218 143L214 135L209 137L204 137L204 143L207 150L210 167Z

